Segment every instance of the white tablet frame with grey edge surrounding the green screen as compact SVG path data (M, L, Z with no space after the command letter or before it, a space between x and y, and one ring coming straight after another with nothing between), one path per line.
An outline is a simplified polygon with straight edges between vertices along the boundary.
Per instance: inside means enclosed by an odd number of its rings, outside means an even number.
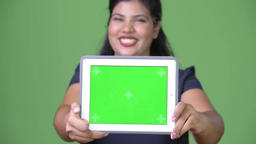
M178 102L178 61L171 56L83 56L80 61L80 116L90 123L90 66L166 66L167 67L167 125L161 124L89 124L92 131L107 133L170 134L171 121ZM175 80L173 80L175 79Z

